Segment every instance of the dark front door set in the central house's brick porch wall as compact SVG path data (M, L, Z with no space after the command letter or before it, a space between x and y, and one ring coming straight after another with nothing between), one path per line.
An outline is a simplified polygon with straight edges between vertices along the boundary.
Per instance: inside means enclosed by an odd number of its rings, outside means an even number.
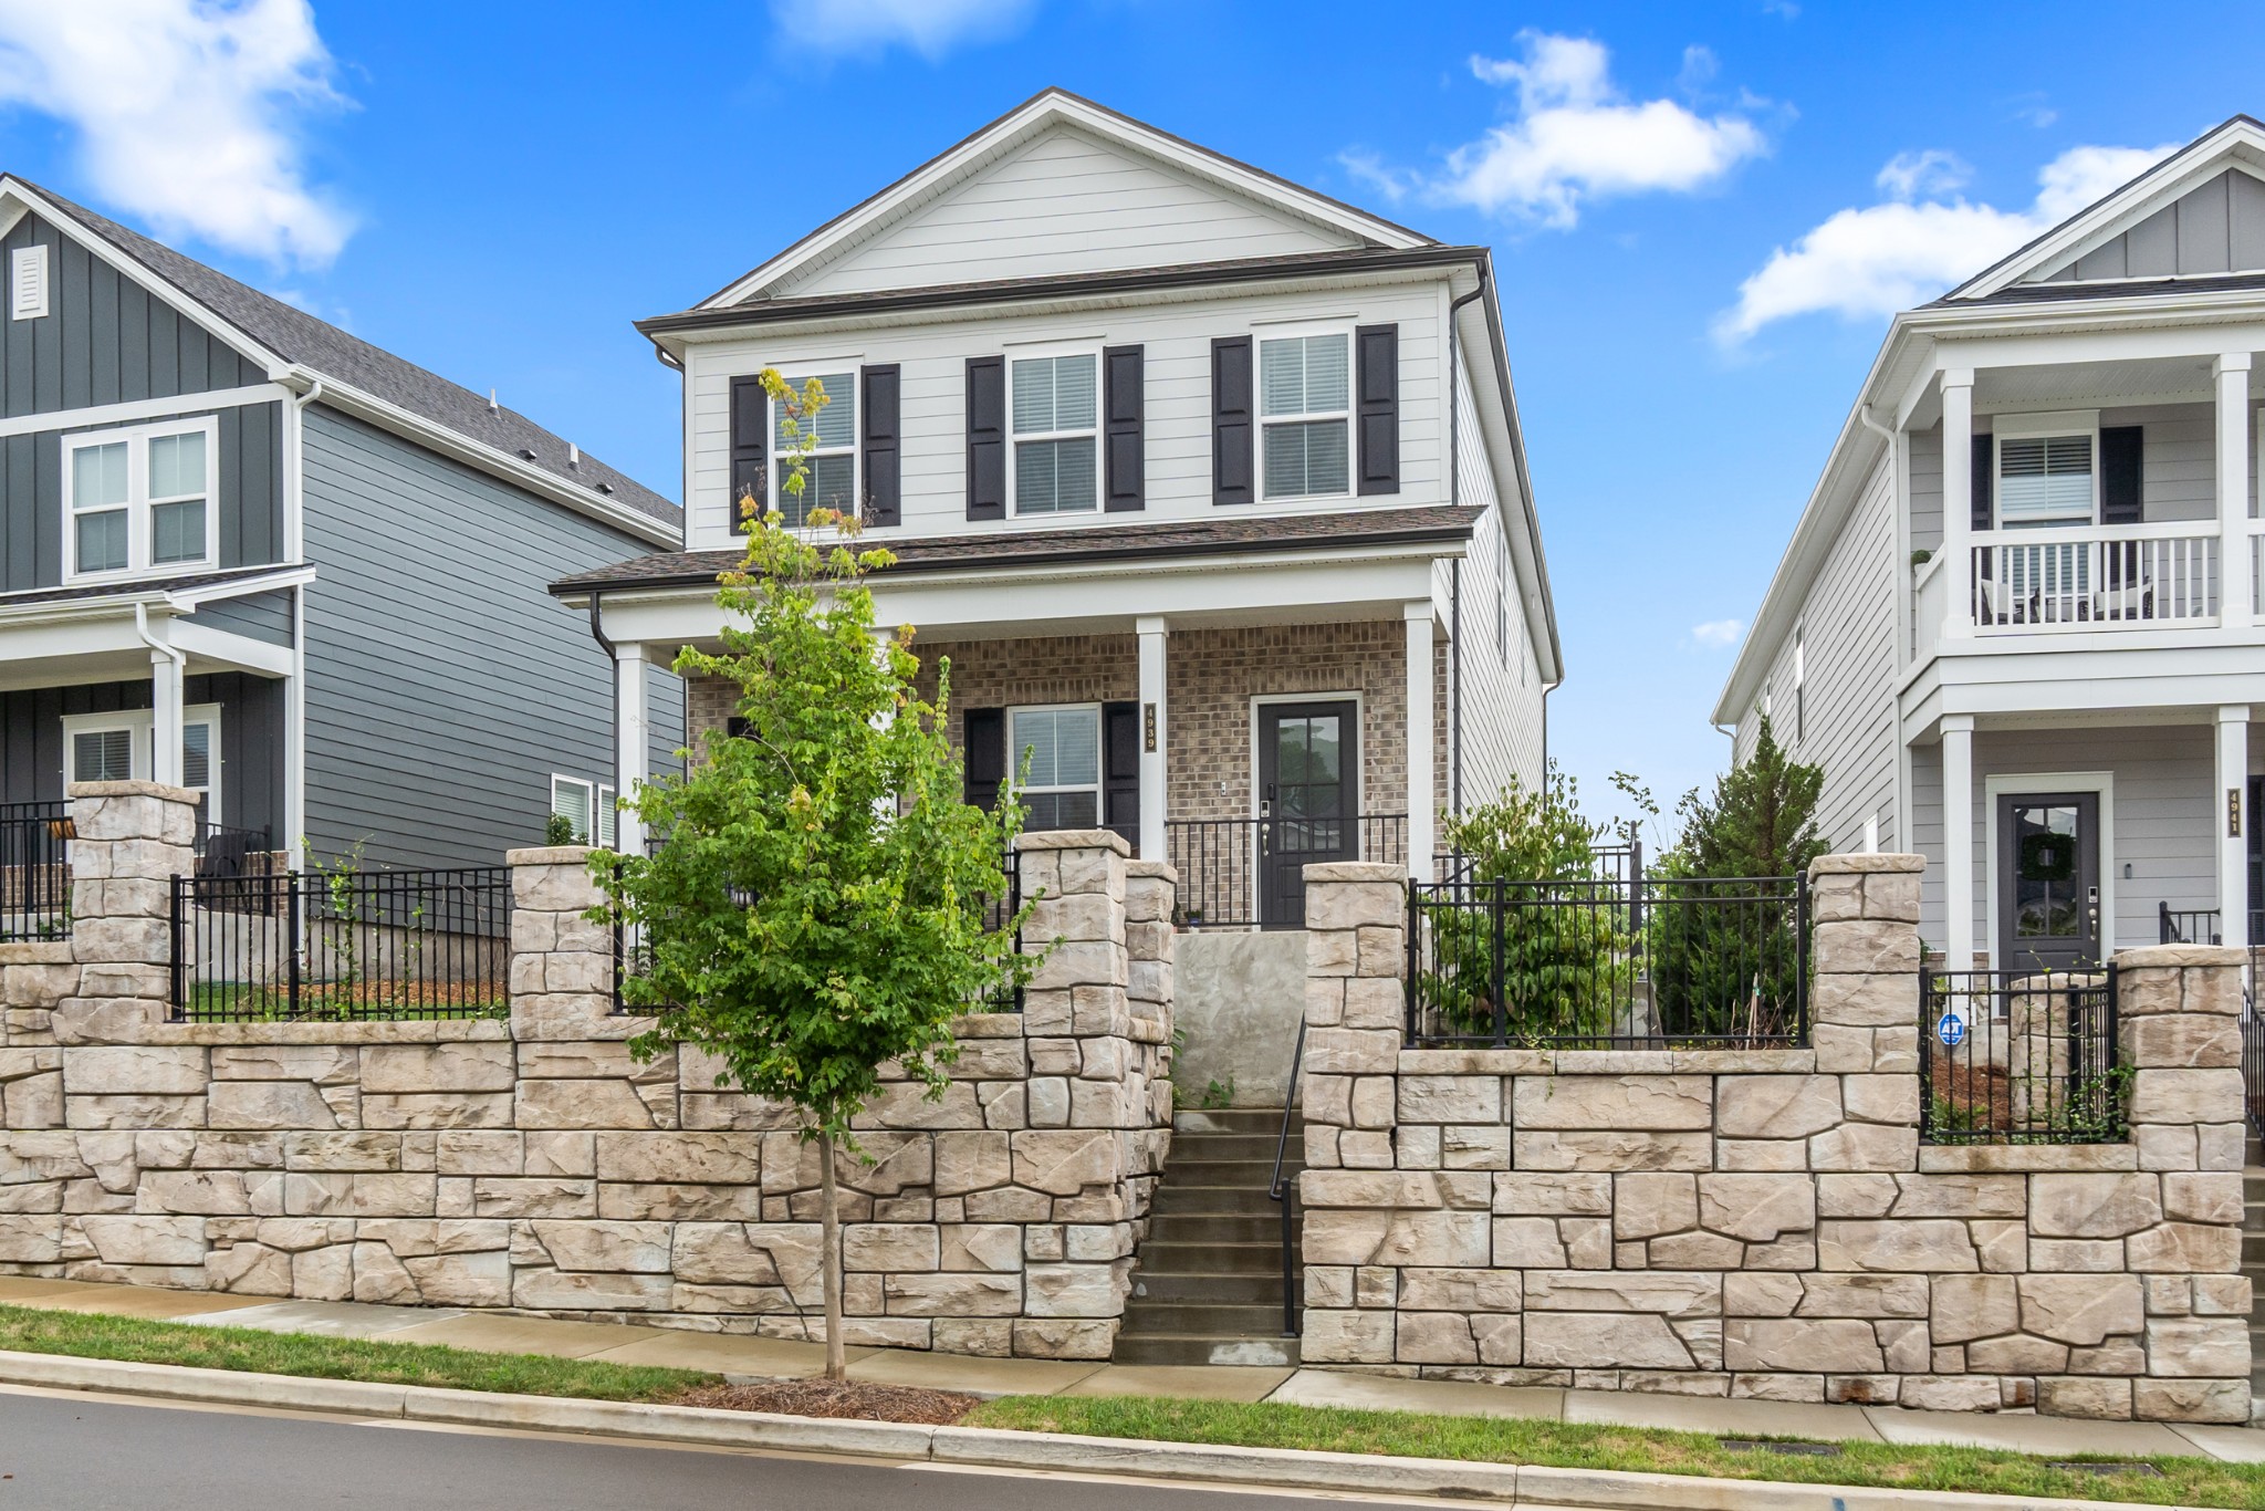
M1352 702L1259 705L1259 922L1305 924L1305 868L1357 861L1359 709Z

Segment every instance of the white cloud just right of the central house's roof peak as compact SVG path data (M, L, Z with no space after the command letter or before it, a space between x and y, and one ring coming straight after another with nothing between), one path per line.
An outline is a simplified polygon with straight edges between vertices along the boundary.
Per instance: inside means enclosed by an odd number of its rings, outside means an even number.
M1592 199L1692 193L1767 150L1744 116L1699 116L1674 100L1631 102L1613 86L1610 54L1586 36L1520 32L1524 57L1472 57L1486 84L1518 91L1515 118L1447 154L1438 172L1409 174L1370 156L1345 168L1388 197L1411 188L1438 204L1465 204L1570 229ZM1685 54L1685 82L1703 79L1712 54Z

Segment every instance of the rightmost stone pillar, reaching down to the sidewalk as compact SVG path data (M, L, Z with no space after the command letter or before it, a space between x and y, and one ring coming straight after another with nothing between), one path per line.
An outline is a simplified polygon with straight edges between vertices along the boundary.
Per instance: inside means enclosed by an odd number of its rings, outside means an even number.
M2131 1382L2131 1414L2247 1423L2242 951L2125 949L2116 979L2116 1044L2131 1069L2140 1164L2122 1180L2134 1183L2129 1196L2147 1207L2143 1217L2161 1219L2125 1239L2125 1264L2147 1289L2147 1373Z

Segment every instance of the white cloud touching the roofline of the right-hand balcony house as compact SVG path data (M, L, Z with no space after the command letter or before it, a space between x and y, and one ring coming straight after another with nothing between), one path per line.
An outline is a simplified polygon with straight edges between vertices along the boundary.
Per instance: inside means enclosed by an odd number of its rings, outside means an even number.
M1715 338L1737 344L1794 315L1832 310L1866 319L1925 304L2172 152L2177 143L2070 147L2038 170L2036 202L2018 211L1946 199L1964 181L1957 172L1964 163L1948 152L1907 152L1880 170L1880 188L1900 197L1837 211L1792 247L1771 251L1740 285L1737 306L1715 322Z

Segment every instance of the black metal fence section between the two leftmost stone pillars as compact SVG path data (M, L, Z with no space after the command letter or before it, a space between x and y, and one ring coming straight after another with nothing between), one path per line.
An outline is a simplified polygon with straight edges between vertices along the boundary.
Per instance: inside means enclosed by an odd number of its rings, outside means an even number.
M512 872L172 879L172 1015L344 1022L510 1013Z

